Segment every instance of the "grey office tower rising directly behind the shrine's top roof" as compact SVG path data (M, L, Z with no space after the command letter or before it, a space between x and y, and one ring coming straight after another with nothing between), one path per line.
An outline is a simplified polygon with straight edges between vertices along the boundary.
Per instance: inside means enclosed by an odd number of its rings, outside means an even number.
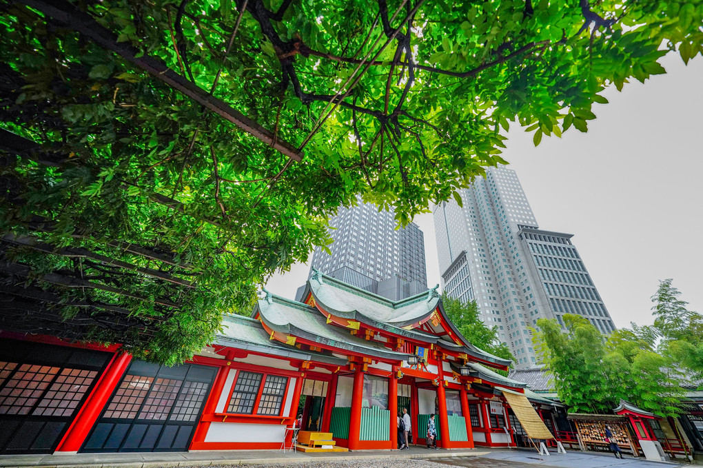
M359 201L330 219L332 254L319 247L312 268L394 301L427 290L425 240L414 223L396 230L393 212Z

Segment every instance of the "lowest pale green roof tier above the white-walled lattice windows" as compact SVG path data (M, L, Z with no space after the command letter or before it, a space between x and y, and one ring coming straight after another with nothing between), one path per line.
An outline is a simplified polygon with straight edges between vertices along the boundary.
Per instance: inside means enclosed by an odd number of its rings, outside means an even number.
M276 356L302 360L315 360L320 363L346 365L347 360L327 356L313 351L301 351L295 346L269 339L259 320L243 316L225 316L222 331L217 334L216 343L248 351L276 353Z

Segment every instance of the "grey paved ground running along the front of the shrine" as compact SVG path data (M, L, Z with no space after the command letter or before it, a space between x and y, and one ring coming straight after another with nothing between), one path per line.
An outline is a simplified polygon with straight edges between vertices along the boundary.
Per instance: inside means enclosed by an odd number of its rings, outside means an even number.
M614 456L593 453L569 452L566 455L553 453L550 457L527 450L427 450L413 447L411 450L361 450L347 453L292 453L279 450L226 450L208 452L177 453L79 453L62 455L4 455L0 456L0 468L157 468L157 467L203 467L238 464L271 464L307 462L335 462L368 460L373 467L383 459L426 459L444 465L471 468L527 467L542 465L556 468L676 468L681 464L647 462L626 457L618 460ZM438 467L441 468L441 464ZM363 463L357 463L363 466Z

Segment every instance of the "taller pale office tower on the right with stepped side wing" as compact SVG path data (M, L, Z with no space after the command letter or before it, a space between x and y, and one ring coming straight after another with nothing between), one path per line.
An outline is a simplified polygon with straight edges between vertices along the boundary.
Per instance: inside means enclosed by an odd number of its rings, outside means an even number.
M484 323L498 326L517 368L538 364L529 332L538 318L575 313L601 332L615 325L571 234L541 230L512 169L491 168L455 201L434 207L444 292L476 301Z

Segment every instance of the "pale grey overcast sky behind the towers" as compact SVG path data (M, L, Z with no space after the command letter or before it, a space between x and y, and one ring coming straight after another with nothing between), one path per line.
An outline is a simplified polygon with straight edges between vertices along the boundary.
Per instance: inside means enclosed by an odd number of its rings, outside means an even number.
M515 169L540 228L574 234L617 327L652 323L658 281L703 313L703 59L669 54L668 72L608 89L588 133L543 138L514 126L503 157ZM425 233L427 283L439 283L432 214ZM294 298L309 267L274 275L266 288Z

